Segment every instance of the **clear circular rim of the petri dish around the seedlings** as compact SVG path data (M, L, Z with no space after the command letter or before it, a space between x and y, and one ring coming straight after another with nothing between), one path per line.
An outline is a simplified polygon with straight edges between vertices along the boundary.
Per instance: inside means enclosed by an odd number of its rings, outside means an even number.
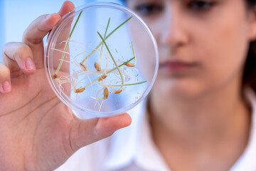
M63 27L67 22L69 22L74 16L77 16L80 11L82 10L88 10L88 9L93 9L93 8L110 8L110 9L118 9L120 11L124 11L126 14L129 14L130 16L133 16L137 21L144 26L145 30L149 34L151 41L154 45L154 51L155 51L155 57L156 57L156 63L155 63L155 71L154 71L154 76L152 77L151 83L149 86L146 88L144 91L143 95L141 98L137 99L135 103L132 103L130 105L125 106L124 108L120 108L118 110L112 110L110 112L100 112L98 113L97 111L94 110L88 110L85 108L80 108L79 105L75 104L73 100L71 100L68 95L65 93L58 91L58 88L56 88L55 83L53 83L53 79L50 77L50 67L49 62L50 59L48 58L51 46L55 45L55 42L58 38L58 35L60 34L60 31L62 31ZM58 98L69 108L71 108L75 115L78 116L78 118L87 118L92 117L92 118L105 118L105 117L110 117L114 115L119 115L121 113L127 112L128 110L134 108L136 105L138 105L144 98L146 98L146 95L149 94L149 91L151 90L152 86L154 85L154 81L156 80L156 76L158 73L158 68L159 68L159 52L158 52L158 47L156 40L153 36L153 33L151 32L149 26L147 26L144 21L133 11L128 9L125 6L122 6L120 4L112 3L112 2L97 2L97 3L90 3L86 4L83 6L78 6L77 8L73 9L73 11L68 12L68 14L65 14L62 19L56 24L56 26L50 31L48 39L46 41L46 46L45 46L45 51L44 51L44 66L45 66L45 71L46 71L46 76L48 79L48 83L50 83L51 88L53 89L53 92L55 95L58 96Z

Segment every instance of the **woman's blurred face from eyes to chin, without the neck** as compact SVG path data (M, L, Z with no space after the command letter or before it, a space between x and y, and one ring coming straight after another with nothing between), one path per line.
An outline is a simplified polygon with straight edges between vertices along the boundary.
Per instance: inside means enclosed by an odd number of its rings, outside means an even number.
M144 19L159 46L153 92L194 98L240 83L256 30L245 0L127 0L127 6Z

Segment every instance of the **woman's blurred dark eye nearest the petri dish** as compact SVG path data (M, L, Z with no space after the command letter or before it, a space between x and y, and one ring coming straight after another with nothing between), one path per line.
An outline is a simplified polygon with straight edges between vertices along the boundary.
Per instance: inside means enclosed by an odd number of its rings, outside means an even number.
M135 7L135 10L142 15L149 16L152 14L158 14L163 9L163 6L158 4L139 4Z

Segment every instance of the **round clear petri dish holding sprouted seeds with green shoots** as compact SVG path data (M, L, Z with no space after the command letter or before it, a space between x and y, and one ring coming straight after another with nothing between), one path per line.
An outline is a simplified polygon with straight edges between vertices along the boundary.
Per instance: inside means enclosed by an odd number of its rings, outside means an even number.
M80 6L49 33L48 82L78 118L102 118L134 108L151 90L159 66L156 41L124 6Z

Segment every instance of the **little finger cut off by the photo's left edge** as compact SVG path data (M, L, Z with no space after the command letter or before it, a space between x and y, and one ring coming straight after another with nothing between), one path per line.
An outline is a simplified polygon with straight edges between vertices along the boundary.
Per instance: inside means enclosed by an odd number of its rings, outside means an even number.
M3 63L0 63L0 92L9 93L11 91L10 70Z

